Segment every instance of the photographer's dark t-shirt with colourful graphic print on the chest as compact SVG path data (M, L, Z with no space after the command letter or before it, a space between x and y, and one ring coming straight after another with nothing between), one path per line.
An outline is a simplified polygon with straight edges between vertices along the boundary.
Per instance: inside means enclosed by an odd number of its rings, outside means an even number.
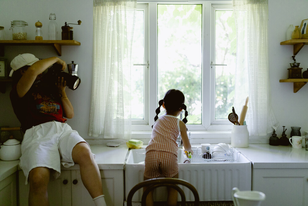
M45 122L66 121L63 118L61 100L57 101L36 88L31 88L19 98L15 85L10 92L10 99L23 132Z

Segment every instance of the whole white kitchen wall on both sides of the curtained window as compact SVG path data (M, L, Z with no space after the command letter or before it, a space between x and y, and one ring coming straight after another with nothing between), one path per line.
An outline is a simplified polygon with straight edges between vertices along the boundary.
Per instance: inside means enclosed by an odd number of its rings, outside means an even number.
M79 76L81 84L75 91L67 89L68 96L75 109L75 117L67 120L73 129L78 130L85 139L93 139L87 136L89 105L92 84L92 44L93 44L93 1L92 0L0 0L0 26L4 26L7 33L6 40L10 40L10 22L24 20L27 26L28 40L35 38L35 22L43 23L43 39L47 40L49 14L54 12L57 17L59 33L64 22L81 25L74 27L74 39L81 43L80 46L62 46L62 56L67 63L75 61L79 64ZM285 40L286 30L290 24L300 25L302 19L307 19L306 0L269 0L269 65L270 83L272 93L272 106L274 113L280 122L278 137L281 137L282 126L286 126L286 134L290 135L291 126L302 127L302 133L308 130L308 85L305 85L297 93L293 93L293 83L280 83L279 79L288 78L289 63L293 62L293 46L280 45ZM51 46L5 46L4 58L10 61L18 54L33 53L38 58L57 56ZM296 55L297 62L306 70L308 61L308 46L304 46ZM0 57L1 58L1 57ZM19 126L9 100L10 84L6 86L6 93L0 94L0 126ZM22 106L22 105L21 105Z

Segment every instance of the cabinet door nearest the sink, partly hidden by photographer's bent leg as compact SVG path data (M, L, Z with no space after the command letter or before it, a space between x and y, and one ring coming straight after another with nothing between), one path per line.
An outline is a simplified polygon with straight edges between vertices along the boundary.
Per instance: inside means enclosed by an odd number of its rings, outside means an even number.
M123 205L124 202L124 181L123 181L123 170L100 170L102 178L103 194L105 195L106 204L119 206ZM76 184L72 184L72 205L77 206L94 206L94 201L91 195L84 187L80 170L72 170L71 172L72 181Z

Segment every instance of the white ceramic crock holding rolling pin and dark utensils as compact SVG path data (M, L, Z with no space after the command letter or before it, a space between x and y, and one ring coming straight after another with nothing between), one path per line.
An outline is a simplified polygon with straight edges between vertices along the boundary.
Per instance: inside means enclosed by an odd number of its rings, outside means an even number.
M231 131L231 145L233 147L249 147L249 132L247 125L233 125Z

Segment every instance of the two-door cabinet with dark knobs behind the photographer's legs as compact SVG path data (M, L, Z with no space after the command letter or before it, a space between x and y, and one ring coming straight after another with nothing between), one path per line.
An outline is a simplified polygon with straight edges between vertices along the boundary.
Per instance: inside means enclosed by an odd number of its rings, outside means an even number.
M100 170L103 193L106 204L123 205L123 170ZM25 185L25 176L19 171L19 199L20 205L28 205L29 185ZM48 185L48 197L50 205L95 205L83 186L80 170L61 170L61 175Z

